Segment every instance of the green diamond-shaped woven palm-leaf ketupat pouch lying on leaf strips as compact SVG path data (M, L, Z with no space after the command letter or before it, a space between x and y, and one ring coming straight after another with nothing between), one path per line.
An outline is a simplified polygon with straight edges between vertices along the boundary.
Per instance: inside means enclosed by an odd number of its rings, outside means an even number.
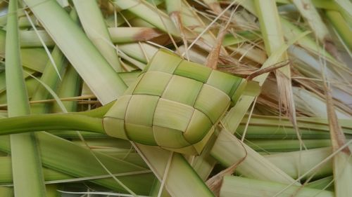
M159 50L103 118L108 135L200 154L241 78Z

